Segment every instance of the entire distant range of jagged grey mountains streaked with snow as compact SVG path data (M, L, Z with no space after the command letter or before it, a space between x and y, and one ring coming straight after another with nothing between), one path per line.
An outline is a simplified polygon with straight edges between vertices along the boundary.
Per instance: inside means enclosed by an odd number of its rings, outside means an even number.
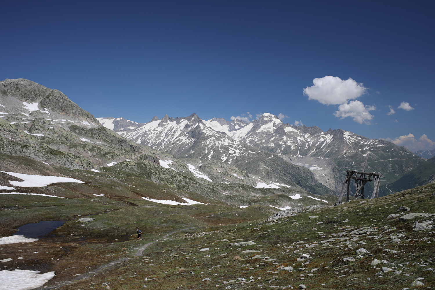
M258 169L264 167L255 165L260 156L269 153L264 156L266 159L280 157L308 168L318 182L334 191L341 188L343 168L362 169L367 154L366 170L381 172L390 181L423 162L406 148L385 140L372 140L341 129L324 132L316 126L293 126L270 113L250 123L223 118L201 120L192 114L177 119L167 115L161 120L154 117L140 125L118 133L178 158L227 163L259 178L270 178L274 171L275 166L271 165L271 172L264 172L261 177ZM256 161L248 162L246 158Z

